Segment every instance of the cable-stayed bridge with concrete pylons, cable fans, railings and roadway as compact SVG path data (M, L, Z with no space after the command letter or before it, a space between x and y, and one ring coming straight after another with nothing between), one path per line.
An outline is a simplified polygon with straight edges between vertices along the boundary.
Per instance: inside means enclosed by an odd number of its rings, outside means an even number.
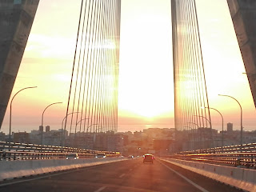
M38 2L14 0L0 3L0 26L3 29L0 124L10 100ZM18 178L18 181L16 184L3 182L0 184L1 190L20 191L29 187L30 190L40 188L53 191L237 191L211 178L220 178L218 181L244 190L256 190L255 172L252 170L255 167L255 150L253 144L246 145L242 142L242 113L240 146L222 145L214 148L210 118L212 108L207 98L195 1L170 2L174 47L175 129L187 131L190 137L182 139L190 143L190 151L157 157L153 160L154 165L143 164L142 157L133 158L133 161L130 161L131 158L116 157L113 154L112 158L110 155L100 160L95 158L97 155L94 154L99 152L110 153L104 150L103 135L116 132L118 126L118 52L122 10L121 1L118 0L81 1L69 98L66 117L63 119L61 145L58 149L60 151L53 151L54 147L43 145L25 147L34 151L24 150L25 144L14 144L9 140L2 146L2 149L10 151L1 152L1 175L2 179ZM256 15L256 4L254 1L227 2L250 88L255 97L256 28L251 19ZM233 98L230 95L222 96ZM49 106L53 104L57 103ZM68 117L71 117L71 122L67 122ZM42 118L42 134L43 128ZM73 141L66 139L66 130L74 130ZM97 150L86 151L76 148L78 140L85 139L85 135L92 135ZM74 148L68 149L67 146ZM81 158L66 161L66 155L70 153L77 153ZM228 165L229 163L220 162L231 163ZM214 166L216 163L224 165ZM78 167L86 168L72 170ZM31 179L19 178L33 173L44 174L57 170L71 171ZM31 180L36 182L30 182Z

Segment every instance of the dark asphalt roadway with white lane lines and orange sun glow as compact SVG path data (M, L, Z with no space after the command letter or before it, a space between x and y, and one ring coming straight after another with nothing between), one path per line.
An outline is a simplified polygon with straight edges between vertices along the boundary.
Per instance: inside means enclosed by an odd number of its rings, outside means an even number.
M192 183L202 186L205 190L199 190L166 166L178 170ZM65 171L55 175L47 174L44 178L32 177L30 181L26 179L18 179L16 181L19 183L16 184L0 186L0 191L241 191L167 162L155 160L153 164L142 163L142 158Z

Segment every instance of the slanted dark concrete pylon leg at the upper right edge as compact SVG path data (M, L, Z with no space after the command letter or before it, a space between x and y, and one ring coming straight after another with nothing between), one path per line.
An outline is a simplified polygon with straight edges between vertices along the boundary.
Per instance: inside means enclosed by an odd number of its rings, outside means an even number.
M256 1L227 0L256 106Z

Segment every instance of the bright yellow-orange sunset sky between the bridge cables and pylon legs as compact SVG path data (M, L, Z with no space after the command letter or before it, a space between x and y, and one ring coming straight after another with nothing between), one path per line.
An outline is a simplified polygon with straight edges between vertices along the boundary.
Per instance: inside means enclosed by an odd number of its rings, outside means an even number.
M240 129L242 105L244 130L254 130L256 113L238 42L226 1L196 0L202 54L210 107L222 112L224 123ZM38 130L42 111L45 125L61 128L66 115L70 74L74 58L80 1L42 0L22 58L13 102L13 130ZM174 85L170 0L122 0L118 131L174 127ZM2 131L9 129L9 107ZM214 129L219 114L211 111Z

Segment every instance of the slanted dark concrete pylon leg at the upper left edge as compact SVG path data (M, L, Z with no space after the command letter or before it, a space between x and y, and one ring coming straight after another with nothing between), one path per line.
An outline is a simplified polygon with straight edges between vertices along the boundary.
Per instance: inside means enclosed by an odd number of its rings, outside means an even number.
M39 0L0 1L0 129Z

